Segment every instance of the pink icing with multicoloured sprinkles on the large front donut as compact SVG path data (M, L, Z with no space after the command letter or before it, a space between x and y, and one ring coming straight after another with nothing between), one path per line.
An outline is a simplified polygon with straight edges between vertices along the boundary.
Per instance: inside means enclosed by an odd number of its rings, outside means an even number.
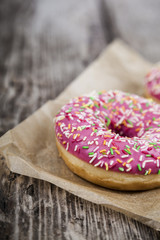
M160 106L132 94L102 91L73 99L56 116L66 151L106 171L160 174Z

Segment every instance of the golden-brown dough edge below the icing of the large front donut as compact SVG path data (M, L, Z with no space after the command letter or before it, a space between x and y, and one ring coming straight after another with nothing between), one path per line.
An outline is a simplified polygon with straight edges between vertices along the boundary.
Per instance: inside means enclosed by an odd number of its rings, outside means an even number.
M66 151L57 138L56 145L60 157L62 157L68 168L73 173L96 185L121 191L140 191L160 187L160 175L158 174L144 176L119 173L111 170L105 171L78 159Z

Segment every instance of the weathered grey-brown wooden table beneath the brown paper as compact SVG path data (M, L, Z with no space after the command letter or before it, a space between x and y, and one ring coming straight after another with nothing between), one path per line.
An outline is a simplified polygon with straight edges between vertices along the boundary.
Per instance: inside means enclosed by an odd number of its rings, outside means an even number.
M152 0L1 0L1 135L54 99L116 37L159 60L159 7ZM160 239L123 214L11 173L2 156L0 164L0 239Z

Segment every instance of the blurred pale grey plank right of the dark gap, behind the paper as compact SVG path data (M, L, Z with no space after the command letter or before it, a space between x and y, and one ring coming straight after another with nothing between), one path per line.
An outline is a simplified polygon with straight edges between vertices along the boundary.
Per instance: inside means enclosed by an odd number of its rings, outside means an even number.
M160 60L159 1L103 0L114 32L148 60Z

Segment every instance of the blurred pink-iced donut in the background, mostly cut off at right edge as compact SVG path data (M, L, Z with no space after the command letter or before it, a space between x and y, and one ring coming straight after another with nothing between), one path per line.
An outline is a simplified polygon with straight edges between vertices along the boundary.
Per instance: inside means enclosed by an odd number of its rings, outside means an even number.
M152 69L145 77L146 96L160 103L160 69Z

